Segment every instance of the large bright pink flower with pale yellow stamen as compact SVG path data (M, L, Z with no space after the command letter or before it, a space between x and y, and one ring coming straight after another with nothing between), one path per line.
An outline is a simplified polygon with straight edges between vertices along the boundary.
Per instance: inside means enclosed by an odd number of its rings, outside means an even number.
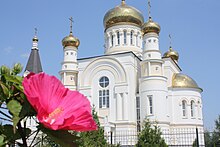
M24 93L37 112L37 118L52 130L96 130L88 99L70 91L54 76L29 74L23 81Z

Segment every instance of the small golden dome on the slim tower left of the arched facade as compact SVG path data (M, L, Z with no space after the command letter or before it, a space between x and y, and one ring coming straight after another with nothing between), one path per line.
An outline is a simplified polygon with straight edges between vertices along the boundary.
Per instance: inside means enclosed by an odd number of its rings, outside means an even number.
M72 32L70 32L70 35L69 36L66 36L65 38L63 38L62 40L62 45L63 47L66 47L66 46L74 46L76 48L78 48L80 44L80 41L78 38L74 37Z

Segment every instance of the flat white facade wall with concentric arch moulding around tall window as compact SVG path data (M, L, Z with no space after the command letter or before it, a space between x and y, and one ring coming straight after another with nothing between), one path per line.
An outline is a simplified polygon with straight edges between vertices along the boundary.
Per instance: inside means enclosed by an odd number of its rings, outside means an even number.
M132 53L79 60L79 90L91 96L90 100L96 106L98 115L107 116L108 122L115 124L117 131L123 128L136 131L138 62L139 59ZM99 79L102 76L108 77L110 82L108 109L99 109L98 105Z

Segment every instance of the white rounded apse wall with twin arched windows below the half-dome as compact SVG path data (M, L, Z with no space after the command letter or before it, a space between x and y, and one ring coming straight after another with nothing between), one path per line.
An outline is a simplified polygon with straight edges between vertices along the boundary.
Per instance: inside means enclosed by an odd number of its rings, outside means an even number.
M172 108L172 110L170 110L172 112L171 124L192 126L203 125L202 100L199 90L172 88L170 94L169 98L172 99L172 103L170 103L170 107ZM185 112L183 112L182 101L186 101ZM191 101L195 102L193 110L191 109ZM183 113L185 113L185 115Z

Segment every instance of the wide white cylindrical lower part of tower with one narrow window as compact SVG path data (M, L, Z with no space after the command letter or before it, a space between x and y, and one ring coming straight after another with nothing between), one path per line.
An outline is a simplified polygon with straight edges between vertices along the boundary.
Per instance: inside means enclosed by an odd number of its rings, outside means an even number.
M166 107L168 103L166 80L162 76L149 76L141 79L141 121L147 117L151 121L158 122L158 124L165 124L166 126L169 124L168 108Z

